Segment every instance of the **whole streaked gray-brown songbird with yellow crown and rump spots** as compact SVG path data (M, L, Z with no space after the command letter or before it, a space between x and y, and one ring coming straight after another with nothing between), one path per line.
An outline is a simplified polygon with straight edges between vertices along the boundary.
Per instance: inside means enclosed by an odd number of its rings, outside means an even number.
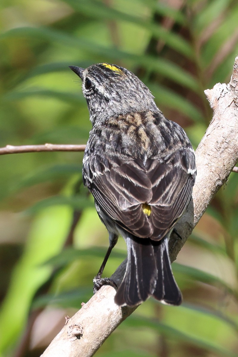
M101 63L70 66L81 78L92 130L83 157L83 182L109 232L109 248L95 289L118 236L127 245L125 276L115 302L136 306L153 296L179 305L168 240L186 210L196 176L184 130L167 120L150 90L132 72Z

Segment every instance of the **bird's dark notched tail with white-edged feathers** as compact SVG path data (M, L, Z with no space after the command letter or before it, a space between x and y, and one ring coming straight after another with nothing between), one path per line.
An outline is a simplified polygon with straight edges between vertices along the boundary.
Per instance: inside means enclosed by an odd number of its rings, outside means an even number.
M126 273L115 296L120 306L136 306L149 296L164 304L180 305L181 291L174 280L168 255L168 238L127 237Z

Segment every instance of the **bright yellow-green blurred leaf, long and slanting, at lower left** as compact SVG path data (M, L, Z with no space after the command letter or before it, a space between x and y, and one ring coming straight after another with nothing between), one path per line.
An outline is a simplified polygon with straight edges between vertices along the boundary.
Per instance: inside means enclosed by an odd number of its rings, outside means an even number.
M9 290L1 306L0 351L13 346L22 333L31 299L50 275L51 268L41 263L61 250L70 220L69 207L50 207L35 218L25 251L14 267Z

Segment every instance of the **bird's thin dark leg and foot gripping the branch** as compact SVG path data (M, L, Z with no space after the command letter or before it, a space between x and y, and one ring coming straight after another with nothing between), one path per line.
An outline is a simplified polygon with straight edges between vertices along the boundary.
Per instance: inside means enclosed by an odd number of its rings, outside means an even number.
M95 294L103 285L111 285L112 287L117 289L117 285L116 283L110 279L110 278L102 278L102 273L103 270L106 266L107 260L111 254L112 248L115 246L116 242L117 242L117 236L114 233L110 233L109 235L109 241L110 241L110 245L108 247L108 250L106 252L106 255L103 259L102 265L100 266L100 269L97 273L97 275L95 276L95 278L93 278L93 294Z

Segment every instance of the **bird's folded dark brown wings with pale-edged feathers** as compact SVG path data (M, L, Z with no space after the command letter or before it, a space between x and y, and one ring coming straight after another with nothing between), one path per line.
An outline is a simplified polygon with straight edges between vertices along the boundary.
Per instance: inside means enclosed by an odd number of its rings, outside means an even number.
M166 162L147 159L145 164L139 159L120 160L118 156L106 157L103 164L97 162L100 157L93 156L91 171L100 167L100 172L92 175L90 187L95 201L133 235L162 239L191 199L195 164L192 151L187 151L176 152ZM143 212L143 203L151 206L150 217Z

